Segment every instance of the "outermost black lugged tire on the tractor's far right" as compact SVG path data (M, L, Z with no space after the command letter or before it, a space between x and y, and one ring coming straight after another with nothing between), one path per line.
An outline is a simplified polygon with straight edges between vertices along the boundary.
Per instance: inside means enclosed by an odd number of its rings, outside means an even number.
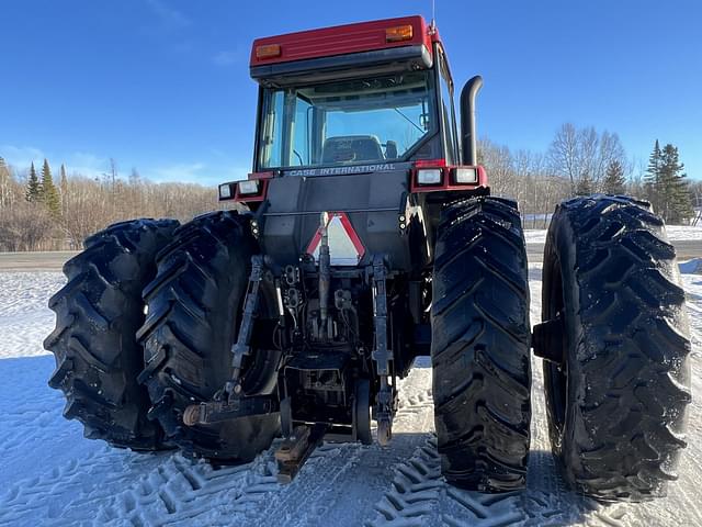
M676 479L690 402L683 304L675 248L648 203L595 195L556 209L542 318L562 313L551 346L564 363L544 362L544 385L552 449L574 489L642 501Z

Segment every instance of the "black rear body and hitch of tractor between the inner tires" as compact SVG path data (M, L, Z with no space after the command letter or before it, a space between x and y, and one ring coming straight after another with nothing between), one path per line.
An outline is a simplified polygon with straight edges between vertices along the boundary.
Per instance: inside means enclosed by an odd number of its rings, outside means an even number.
M397 379L430 352L433 238L449 199L410 192L410 164L343 176L285 175L268 181L265 201L249 216L260 255L252 261L229 388L236 394L244 384L256 349L280 350L280 363L267 367L278 375L286 435L297 424L324 424L327 439L365 440L355 402L367 397L380 440L389 439ZM450 198L487 192L454 191ZM307 254L325 212L349 218L364 247L356 266L332 266L333 254L325 256L325 248L317 260Z

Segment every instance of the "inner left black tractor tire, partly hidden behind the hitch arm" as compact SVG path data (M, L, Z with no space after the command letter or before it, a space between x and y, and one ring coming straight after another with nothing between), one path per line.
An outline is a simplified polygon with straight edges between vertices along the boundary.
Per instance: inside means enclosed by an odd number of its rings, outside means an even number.
M210 401L231 378L230 349L257 250L248 227L233 211L194 218L176 231L158 256L156 279L144 290L140 380L154 403L149 415L184 453L219 463L250 461L280 434L278 413L213 425L182 421L185 407ZM276 368L265 350L254 357L252 370L265 374ZM248 394L247 383L244 388Z

